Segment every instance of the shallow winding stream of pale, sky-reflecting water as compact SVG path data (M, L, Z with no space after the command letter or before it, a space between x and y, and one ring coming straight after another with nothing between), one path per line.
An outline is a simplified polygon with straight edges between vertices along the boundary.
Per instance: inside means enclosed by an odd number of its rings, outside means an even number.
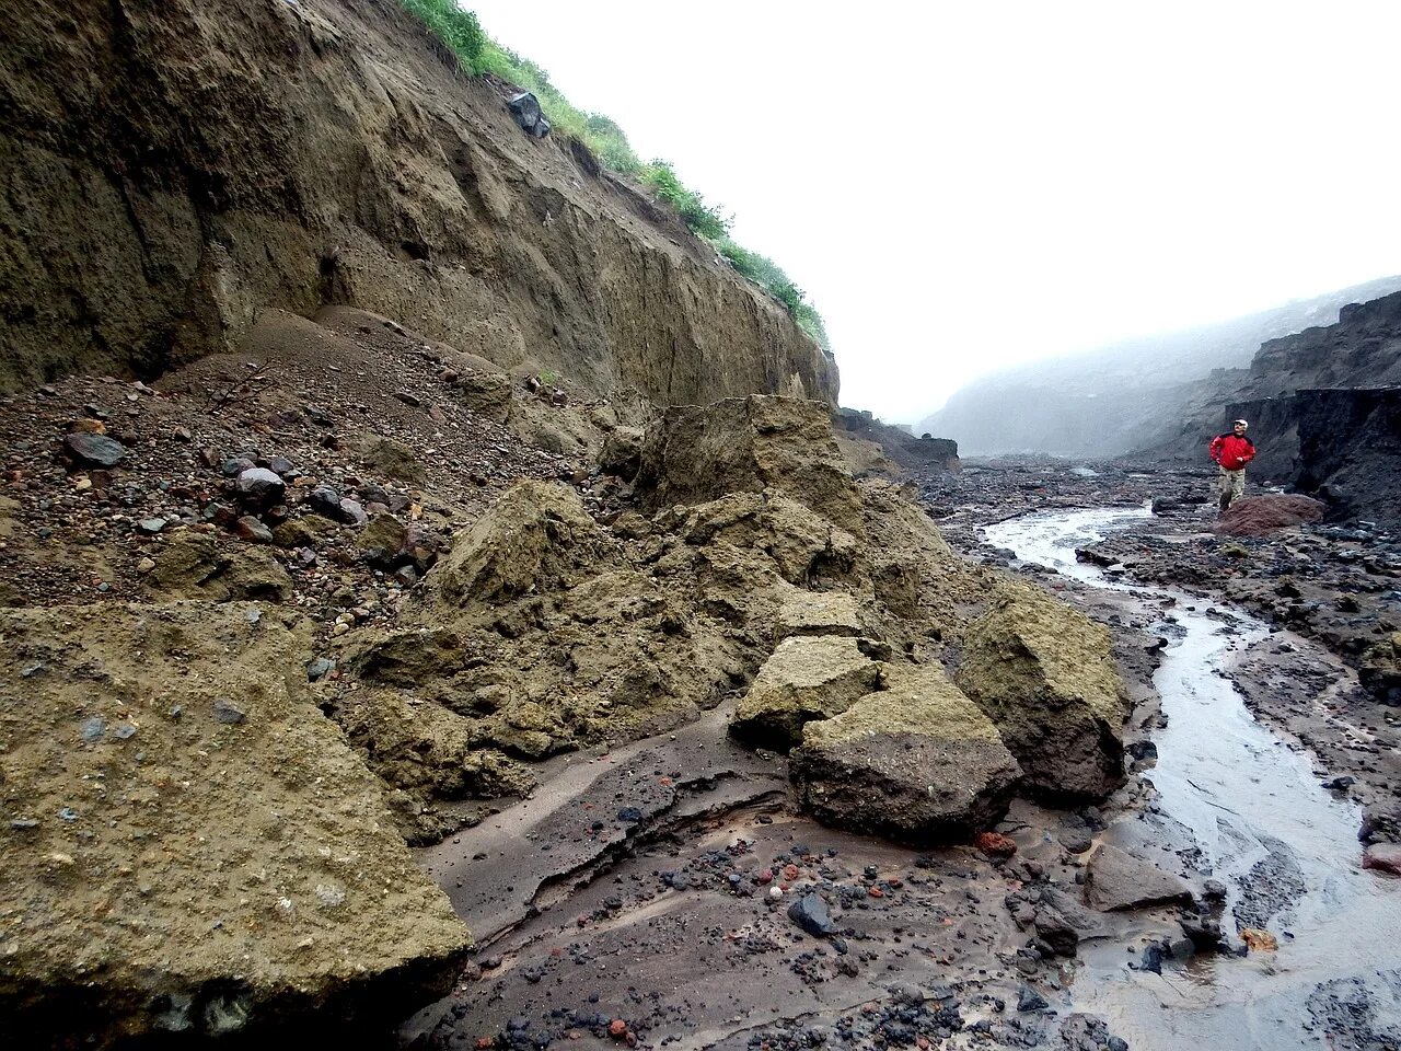
M1139 844L1159 835L1163 846L1195 845L1198 867L1229 887L1223 929L1268 928L1279 950L1168 961L1154 974L1131 968L1139 957L1119 942L1084 942L1075 1006L1104 1016L1135 1051L1395 1047L1401 883L1360 869L1358 809L1325 790L1307 754L1258 723L1220 674L1269 631L1222 603L1126 587L1075 559L1077 547L1147 514L1034 514L991 526L985 538L1161 611L1170 643L1154 685L1168 723L1154 733L1157 765L1146 772L1161 813L1121 831ZM1213 605L1230 617L1208 615Z

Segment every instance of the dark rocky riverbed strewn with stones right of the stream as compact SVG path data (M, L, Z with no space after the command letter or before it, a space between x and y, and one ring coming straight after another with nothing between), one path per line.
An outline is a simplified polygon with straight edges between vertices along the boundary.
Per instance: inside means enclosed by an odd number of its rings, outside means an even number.
M1373 523L1307 520L1321 506L1311 511L1310 502L1254 488L1220 518L1210 481L1205 468L1003 461L926 479L923 492L944 513L940 527L953 544L1002 565L1012 559L991 549L979 527L1009 513L1152 509L1079 545L1077 559L1114 580L1171 586L1208 607L1222 603L1223 622L1236 610L1269 625L1269 636L1231 670L1247 705L1304 746L1334 790L1365 806L1365 842L1394 842L1401 838L1401 534ZM1276 514L1281 524L1268 526Z

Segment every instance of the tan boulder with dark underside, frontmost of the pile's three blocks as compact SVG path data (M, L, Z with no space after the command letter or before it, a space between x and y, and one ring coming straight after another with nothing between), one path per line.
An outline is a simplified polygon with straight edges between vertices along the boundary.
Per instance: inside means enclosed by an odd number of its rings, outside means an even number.
M937 666L887 666L885 689L803 727L799 804L916 845L968 839L1007 811L1020 769L998 727Z

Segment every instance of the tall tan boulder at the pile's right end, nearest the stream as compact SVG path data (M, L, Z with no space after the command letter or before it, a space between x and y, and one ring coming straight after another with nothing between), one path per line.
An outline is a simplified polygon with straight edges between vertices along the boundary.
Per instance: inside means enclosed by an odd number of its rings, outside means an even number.
M1009 587L969 626L955 681L998 726L1033 795L1101 799L1124 781L1124 684L1108 629L1084 614Z

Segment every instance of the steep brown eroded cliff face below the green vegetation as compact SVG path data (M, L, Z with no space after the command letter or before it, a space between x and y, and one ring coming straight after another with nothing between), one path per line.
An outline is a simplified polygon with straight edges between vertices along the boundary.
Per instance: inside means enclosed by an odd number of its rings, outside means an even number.
M0 390L347 304L600 392L835 405L780 304L396 0L25 4L0 63Z

